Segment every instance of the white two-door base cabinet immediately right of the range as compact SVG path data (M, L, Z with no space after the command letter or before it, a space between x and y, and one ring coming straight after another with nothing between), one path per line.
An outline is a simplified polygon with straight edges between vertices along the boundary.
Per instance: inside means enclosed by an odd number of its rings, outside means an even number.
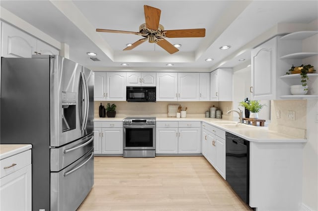
M157 122L157 154L199 154L200 122Z

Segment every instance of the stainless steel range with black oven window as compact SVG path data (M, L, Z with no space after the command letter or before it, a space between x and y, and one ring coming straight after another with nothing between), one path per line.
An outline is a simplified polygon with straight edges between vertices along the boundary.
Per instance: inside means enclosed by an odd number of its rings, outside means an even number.
M156 117L127 117L123 129L124 158L155 157Z

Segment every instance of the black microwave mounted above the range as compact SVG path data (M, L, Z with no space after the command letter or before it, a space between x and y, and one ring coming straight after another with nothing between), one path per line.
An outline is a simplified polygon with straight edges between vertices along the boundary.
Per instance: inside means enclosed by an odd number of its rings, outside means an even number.
M156 102L156 87L127 87L126 101Z

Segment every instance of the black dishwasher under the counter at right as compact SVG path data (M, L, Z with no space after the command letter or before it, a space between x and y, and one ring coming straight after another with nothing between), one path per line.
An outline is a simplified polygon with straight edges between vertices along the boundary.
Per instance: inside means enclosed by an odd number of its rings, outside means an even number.
M226 132L226 180L249 204L249 142Z

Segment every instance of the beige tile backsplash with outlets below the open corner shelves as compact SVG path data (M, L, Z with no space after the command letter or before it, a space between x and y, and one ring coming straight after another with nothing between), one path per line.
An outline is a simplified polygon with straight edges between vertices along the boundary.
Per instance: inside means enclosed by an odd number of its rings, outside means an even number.
M271 101L269 130L307 138L307 100Z

